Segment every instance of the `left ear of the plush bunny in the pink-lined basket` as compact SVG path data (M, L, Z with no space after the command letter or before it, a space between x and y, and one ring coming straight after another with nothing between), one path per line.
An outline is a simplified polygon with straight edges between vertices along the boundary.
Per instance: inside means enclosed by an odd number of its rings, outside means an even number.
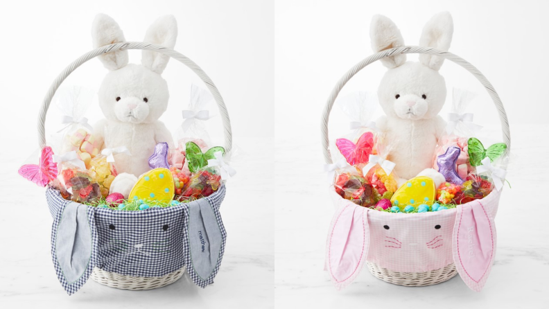
M372 40L372 49L378 53L385 49L404 46L404 39L399 28L394 22L383 15L374 15L370 25L370 39ZM406 54L401 53L380 59L381 63L393 69L406 62Z

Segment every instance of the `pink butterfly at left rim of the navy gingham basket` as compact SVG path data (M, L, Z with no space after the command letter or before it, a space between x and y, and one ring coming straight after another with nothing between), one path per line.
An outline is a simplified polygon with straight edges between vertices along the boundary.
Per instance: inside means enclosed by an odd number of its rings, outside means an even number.
M39 165L25 164L19 168L19 175L34 182L38 186L46 186L57 177L57 164L53 162L53 150L46 146L42 149Z

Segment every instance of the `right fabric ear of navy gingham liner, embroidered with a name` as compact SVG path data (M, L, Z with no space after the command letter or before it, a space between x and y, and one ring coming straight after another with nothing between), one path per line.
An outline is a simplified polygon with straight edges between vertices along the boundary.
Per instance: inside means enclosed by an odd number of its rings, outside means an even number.
M225 197L225 186L220 187L214 196L190 202L185 210L189 227L186 235L186 267L189 276L200 288L214 283L227 240L219 212Z

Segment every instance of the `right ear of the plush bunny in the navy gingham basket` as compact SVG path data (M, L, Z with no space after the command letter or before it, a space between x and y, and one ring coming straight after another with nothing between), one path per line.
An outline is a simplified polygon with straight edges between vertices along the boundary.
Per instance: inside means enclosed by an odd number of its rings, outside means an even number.
M177 21L173 15L166 15L157 19L147 30L143 42L158 44L172 48L177 39ZM151 71L162 74L166 69L170 57L155 51L143 50L141 64Z

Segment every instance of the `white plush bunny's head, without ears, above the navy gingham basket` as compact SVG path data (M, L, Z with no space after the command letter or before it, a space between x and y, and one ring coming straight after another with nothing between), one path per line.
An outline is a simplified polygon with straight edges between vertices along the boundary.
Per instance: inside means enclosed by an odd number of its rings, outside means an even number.
M138 64L110 71L99 89L105 118L126 123L154 123L166 111L169 98L166 80Z

